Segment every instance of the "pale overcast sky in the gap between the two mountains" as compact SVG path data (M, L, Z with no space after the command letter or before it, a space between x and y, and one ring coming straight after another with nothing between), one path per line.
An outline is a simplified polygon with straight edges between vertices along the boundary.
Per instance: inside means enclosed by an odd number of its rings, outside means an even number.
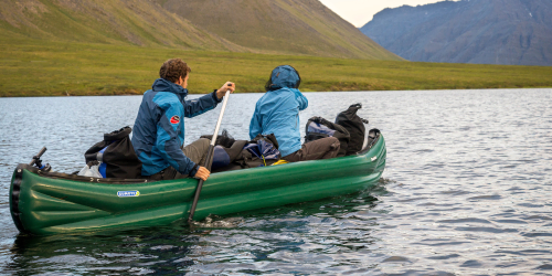
M403 4L418 6L444 0L320 0L344 20L355 26L363 26L372 17L385 8L396 8Z

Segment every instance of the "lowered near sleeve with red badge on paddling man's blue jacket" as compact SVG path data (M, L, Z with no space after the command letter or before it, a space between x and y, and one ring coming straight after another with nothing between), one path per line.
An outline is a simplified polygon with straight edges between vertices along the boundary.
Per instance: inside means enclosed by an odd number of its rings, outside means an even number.
M179 104L180 105L180 104ZM156 147L161 152L161 157L169 162L171 167L177 169L183 176L190 174L195 167L195 163L190 160L182 149L180 149L180 138L178 132L182 124L171 124L170 118L172 116L179 116L182 118L182 109L178 105L169 105L163 110L164 114L161 116L157 123L157 141ZM191 173L194 176L195 173Z

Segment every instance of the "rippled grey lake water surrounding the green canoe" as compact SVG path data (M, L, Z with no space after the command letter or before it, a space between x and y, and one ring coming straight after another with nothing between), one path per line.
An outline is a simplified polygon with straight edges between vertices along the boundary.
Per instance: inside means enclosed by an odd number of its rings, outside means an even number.
M222 128L246 139L261 95L233 95ZM0 274L552 275L552 89L306 96L301 124L363 104L388 146L378 187L193 230L46 237L13 225L15 166L46 146L54 170L81 169L104 132L134 124L141 97L0 98ZM187 119L187 144L219 109Z

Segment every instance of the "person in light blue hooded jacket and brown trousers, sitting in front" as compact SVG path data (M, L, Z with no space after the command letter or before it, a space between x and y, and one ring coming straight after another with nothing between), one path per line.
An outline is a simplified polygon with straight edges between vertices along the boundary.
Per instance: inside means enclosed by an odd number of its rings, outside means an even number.
M288 162L333 158L339 151L339 140L327 137L301 146L299 112L308 100L299 92L299 73L289 65L273 70L263 95L255 105L250 124L250 137L274 134L282 159Z

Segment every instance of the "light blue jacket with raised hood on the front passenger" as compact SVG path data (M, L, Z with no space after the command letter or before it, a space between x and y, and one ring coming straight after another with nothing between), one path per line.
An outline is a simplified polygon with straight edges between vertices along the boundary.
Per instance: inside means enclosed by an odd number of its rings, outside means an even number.
M283 70L279 70L283 68ZM298 76L280 66L273 71L272 87L255 105L250 124L250 138L258 134L274 134L278 140L282 157L301 148L299 110L308 107L307 98L295 86Z

